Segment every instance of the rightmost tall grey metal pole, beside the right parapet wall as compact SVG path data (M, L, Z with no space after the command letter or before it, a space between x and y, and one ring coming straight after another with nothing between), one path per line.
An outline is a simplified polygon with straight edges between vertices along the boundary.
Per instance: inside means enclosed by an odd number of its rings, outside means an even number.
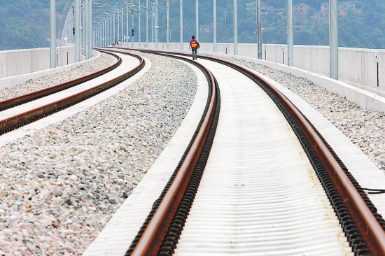
M329 0L330 22L330 78L338 80L338 3Z

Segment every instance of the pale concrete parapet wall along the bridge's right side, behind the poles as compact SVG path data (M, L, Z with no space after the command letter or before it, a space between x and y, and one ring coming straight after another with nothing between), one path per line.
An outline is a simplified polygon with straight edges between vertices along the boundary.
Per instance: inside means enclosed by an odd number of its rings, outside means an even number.
M128 44L132 46L131 43ZM146 43L134 43L134 47L145 48ZM149 43L155 48L155 43ZM166 50L166 43L158 43L158 49ZM181 43L169 43L169 49L181 50ZM183 43L189 50L189 43ZM213 52L213 43L200 43L200 51ZM217 53L234 55L233 43L217 43ZM287 65L287 45L262 45L262 60ZM255 43L238 43L238 57L258 58ZM230 57L230 56L229 56ZM328 46L294 45L294 67L321 76L330 76ZM338 80L355 87L385 96L385 50L362 48L338 49Z

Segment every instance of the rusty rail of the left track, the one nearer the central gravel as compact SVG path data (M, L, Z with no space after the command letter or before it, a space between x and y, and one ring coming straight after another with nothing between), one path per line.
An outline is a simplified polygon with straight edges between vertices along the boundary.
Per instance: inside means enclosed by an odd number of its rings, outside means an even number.
M19 115L14 115L13 117L0 120L0 135L5 134L8 131L12 131L13 129L18 129L19 127L27 125L38 119L44 118L47 115L72 106L73 104L88 99L89 97L99 94L100 92L104 92L105 90L108 90L109 88L118 85L124 80L127 80L128 78L134 76L134 74L138 73L141 69L144 68L145 61L143 58L137 55L132 56L137 57L140 60L139 65L136 66L134 69L128 71L127 73L124 73L118 78L113 78L105 83L102 83L102 85L96 85L90 89L84 90L83 92L73 94L64 99L60 99L50 104L46 104L45 106L34 108L30 111L26 111L25 113L20 113Z

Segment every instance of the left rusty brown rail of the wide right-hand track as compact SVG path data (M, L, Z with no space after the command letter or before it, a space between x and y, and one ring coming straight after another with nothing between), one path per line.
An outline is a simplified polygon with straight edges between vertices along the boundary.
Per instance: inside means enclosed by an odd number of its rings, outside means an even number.
M191 62L190 59L182 57L177 58ZM204 148L204 144L207 141L207 136L209 134L209 130L211 129L216 111L215 108L217 104L218 92L214 86L214 76L212 76L212 74L205 69L204 66L200 65L200 69L203 69L204 72L207 73L209 77L209 86L212 89L207 115L205 115L202 126L193 141L193 145L191 146L188 154L186 155L186 159L183 161L181 168L170 185L169 190L165 194L165 197L163 197L162 201L160 201L160 205L155 211L153 218L148 223L144 233L130 254L132 256L156 255L158 253L162 241L167 233L167 229L172 222L174 213L176 212L183 194L186 191L190 177L193 175L193 171L197 166L198 159L202 153L202 148Z

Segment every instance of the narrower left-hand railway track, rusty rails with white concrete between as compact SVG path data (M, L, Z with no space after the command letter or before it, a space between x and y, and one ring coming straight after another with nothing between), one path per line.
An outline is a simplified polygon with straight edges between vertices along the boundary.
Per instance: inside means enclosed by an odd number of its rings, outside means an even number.
M122 83L144 68L144 59L137 55L130 55L131 57L135 57L139 61L139 64L132 67L129 71L127 71L125 67L118 69L123 62L122 57L112 52L105 53L116 57L116 64L102 71L71 80L67 83L1 101L0 135L62 111L81 101L90 99ZM106 76L107 73L109 76ZM99 78L99 81L95 81L97 78Z

